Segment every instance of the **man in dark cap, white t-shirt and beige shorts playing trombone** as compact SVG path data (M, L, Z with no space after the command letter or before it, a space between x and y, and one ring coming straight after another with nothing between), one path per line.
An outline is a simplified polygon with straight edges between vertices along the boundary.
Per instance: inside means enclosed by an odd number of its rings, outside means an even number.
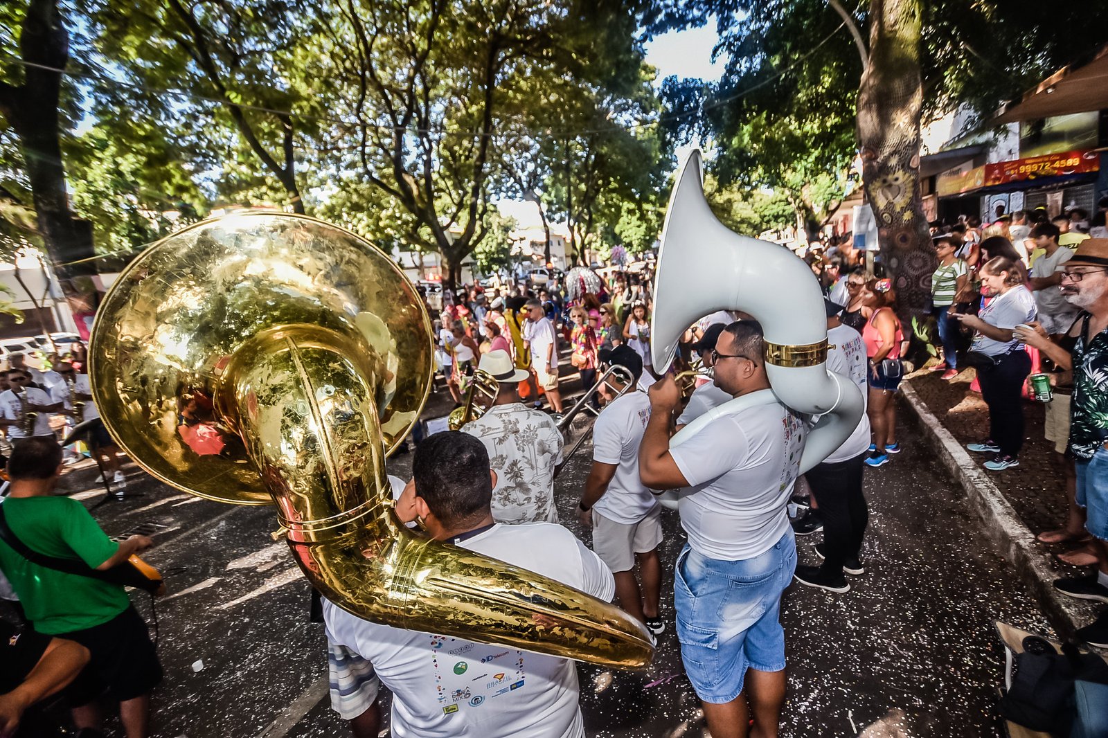
M608 362L627 369L636 382L643 373L643 360L628 346L612 349ZM608 381L622 389L615 377ZM650 398L637 388L604 408L593 426L593 468L577 512L593 529L593 551L615 574L619 606L657 635L666 629L658 616L661 505L638 478L638 444L649 417Z

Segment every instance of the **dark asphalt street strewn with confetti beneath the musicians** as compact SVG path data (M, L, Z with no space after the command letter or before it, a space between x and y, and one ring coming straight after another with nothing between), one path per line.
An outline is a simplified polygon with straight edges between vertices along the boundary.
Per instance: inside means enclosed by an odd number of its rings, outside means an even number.
M449 410L443 396L433 398L428 417ZM995 695L1004 658L993 623L1045 631L1046 619L917 438L902 426L904 451L866 472L866 573L852 577L843 595L797 584L786 593L783 736L855 736L875 722L882 736L1001 735ZM410 454L399 455L389 471L407 479L410 464ZM201 500L126 469L127 499L93 514L112 535L152 533L156 547L145 557L166 575L171 594L156 609L165 666L153 700L156 735L349 735L329 708L325 638L322 626L308 622L308 585L286 544L270 535L274 511ZM557 483L562 521L586 543L574 510L587 471L586 444ZM90 508L104 496L94 475L86 464L63 480ZM667 511L664 524L667 631L646 672L579 666L589 736L708 735L673 625L671 566L685 539L676 512ZM815 563L819 540L799 540L801 563ZM146 595L132 598L152 622ZM111 729L121 735L117 721Z

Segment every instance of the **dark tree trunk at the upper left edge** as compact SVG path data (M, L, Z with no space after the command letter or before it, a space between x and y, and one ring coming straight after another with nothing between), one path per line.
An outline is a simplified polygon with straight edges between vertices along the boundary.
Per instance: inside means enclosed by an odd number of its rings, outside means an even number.
M14 130L31 185L39 233L65 296L84 298L72 277L94 274L91 262L66 266L93 256L92 228L78 219L69 205L61 152L61 72L69 61L69 33L55 0L34 0L20 31L20 52L27 65L19 86L0 83L0 112ZM43 69L49 68L49 69Z

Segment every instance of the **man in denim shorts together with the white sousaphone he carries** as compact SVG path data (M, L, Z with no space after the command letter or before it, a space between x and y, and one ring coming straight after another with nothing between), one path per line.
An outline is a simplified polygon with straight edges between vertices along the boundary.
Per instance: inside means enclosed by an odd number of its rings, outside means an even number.
M649 488L679 490L688 544L674 575L677 638L708 728L715 738L746 738L752 718L753 735L770 737L778 735L786 690L778 612L797 565L786 505L797 476L854 430L862 396L827 369L825 310L811 270L776 244L728 229L712 215L700 180L694 152L661 235L654 366L665 369L699 316L728 309L757 320L728 325L711 353L716 386L735 399L670 438L677 383L667 375L650 389L639 475ZM712 265L708 278L704 264ZM790 289L788 310L774 291L782 285Z

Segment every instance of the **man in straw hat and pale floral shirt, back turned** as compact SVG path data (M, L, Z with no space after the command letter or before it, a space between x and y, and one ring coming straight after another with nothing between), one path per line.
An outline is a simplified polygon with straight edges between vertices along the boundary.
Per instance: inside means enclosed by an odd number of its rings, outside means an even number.
M516 391L530 375L516 369L507 351L489 351L478 365L500 382L493 406L462 431L474 435L489 450L496 472L492 491L492 516L497 523L556 523L554 469L562 463L564 439L545 412L520 402Z

